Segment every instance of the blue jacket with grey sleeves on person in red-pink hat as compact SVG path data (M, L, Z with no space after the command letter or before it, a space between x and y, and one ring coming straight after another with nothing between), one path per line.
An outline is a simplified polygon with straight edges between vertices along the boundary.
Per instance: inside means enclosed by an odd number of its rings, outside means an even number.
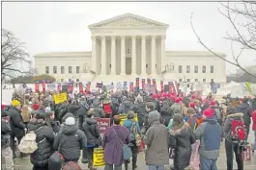
M203 158L218 158L221 142L221 127L215 117L209 117L195 131L200 139L199 154Z

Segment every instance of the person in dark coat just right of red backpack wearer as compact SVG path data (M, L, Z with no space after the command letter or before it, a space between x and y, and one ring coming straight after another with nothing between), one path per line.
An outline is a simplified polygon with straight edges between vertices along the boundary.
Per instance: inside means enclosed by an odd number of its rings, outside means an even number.
M246 127L246 143L247 143L247 138L250 132L250 123L251 123L251 112L252 112L252 108L250 107L250 105L248 104L249 99L244 98L242 101L242 104L238 106L238 110L239 112L242 112L243 114L243 123Z

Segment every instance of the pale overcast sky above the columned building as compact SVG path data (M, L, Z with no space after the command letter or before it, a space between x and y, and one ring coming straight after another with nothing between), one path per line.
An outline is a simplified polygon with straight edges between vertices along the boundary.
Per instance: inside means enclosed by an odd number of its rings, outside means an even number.
M2 28L14 33L26 43L30 55L45 52L91 51L88 25L131 12L169 24L166 50L206 50L198 43L190 26L213 50L231 59L231 43L223 39L226 32L234 34L232 26L218 9L219 3L91 3L91 2L3 2ZM241 20L245 22L246 20ZM240 46L234 45L235 53ZM255 51L244 51L241 62L255 63ZM227 73L236 67L227 66Z

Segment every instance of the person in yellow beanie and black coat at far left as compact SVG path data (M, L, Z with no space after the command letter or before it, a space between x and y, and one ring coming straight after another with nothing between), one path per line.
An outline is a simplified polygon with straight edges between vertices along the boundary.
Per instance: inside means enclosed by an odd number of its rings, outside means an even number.
M26 125L23 123L23 119L21 116L21 106L19 101L13 100L13 107L10 109L10 126L12 129L12 134L11 134L11 148L13 150L13 156L15 158L15 153L14 153L14 138L17 138L17 142L19 144L21 138L25 135L26 131ZM23 154L20 155L20 157L24 157Z

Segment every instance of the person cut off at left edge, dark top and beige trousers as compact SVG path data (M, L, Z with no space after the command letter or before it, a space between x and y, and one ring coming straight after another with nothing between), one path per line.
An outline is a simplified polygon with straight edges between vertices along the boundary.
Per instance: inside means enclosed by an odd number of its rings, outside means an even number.
M1 156L3 170L14 170L13 151L10 147L10 134L12 134L9 123L1 119Z

